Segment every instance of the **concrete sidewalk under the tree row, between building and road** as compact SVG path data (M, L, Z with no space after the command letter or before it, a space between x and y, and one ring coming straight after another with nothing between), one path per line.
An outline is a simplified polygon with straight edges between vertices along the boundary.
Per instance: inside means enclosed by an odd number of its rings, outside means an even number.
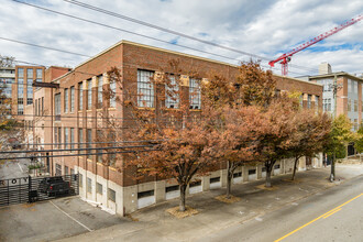
M338 165L337 182L329 183L330 167L297 173L295 183L288 182L290 174L273 177L275 190L256 186L256 180L232 186L232 194L241 200L224 204L215 199L223 195L224 188L196 194L187 198L187 205L198 215L177 219L165 210L178 206L178 199L165 201L133 212L129 222L84 233L62 241L194 241L223 230L233 224L255 219L284 206L297 206L299 200L320 194L344 180L363 174L363 165Z

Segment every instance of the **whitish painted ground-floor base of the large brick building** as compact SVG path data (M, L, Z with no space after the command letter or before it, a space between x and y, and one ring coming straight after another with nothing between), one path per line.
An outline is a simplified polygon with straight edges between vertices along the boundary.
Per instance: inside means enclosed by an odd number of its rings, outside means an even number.
M322 156L312 158L311 168L322 167ZM292 173L294 162L284 160L275 164L273 175ZM306 158L301 158L298 166L299 170L307 168ZM158 180L143 183L134 186L122 187L101 176L95 175L80 167L75 167L79 173L79 195L82 199L97 204L106 210L119 216L133 212L161 201L179 197L179 188L175 180ZM234 170L233 183L248 183L262 179L266 176L262 165L242 166ZM212 172L209 176L196 177L187 187L187 195L218 189L227 185L227 169Z

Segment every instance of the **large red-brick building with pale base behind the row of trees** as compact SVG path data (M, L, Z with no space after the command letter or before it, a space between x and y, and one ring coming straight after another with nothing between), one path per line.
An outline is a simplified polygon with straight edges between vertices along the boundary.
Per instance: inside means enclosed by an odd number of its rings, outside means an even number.
M208 79L213 72L221 73L231 79L238 74L238 66L234 65L122 41L57 78L45 74L45 81L59 84L59 88L41 88L34 95L35 100L44 97L44 107L46 107L44 109L50 110L51 113L50 119L45 118L43 121L44 130L37 130L36 135L44 143L54 143L52 147L45 145L46 148L94 147L95 144L87 144L87 142L95 142L99 135L98 132L107 131L107 121L117 121L120 129L132 125L130 108L121 105L127 92L135 97L135 103L140 109L157 112L158 107L154 98L155 87L148 84L148 80L150 77L157 77L162 73L173 74L175 68L169 65L170 61L178 63L178 69L182 70L183 81L179 87L182 95L177 101L166 97L163 105L169 109L178 109L179 103L187 103L190 107L188 110L190 117L200 111L201 103L198 95L197 98L190 98L190 95L198 90L200 79ZM117 82L110 84L107 72L114 66L121 72L123 89L120 89ZM198 79L193 78L191 73L198 73ZM275 78L277 79L276 91L300 91L304 107L321 109L321 85L282 76L275 76ZM102 95L102 90L110 89L116 91L121 102L116 101L114 98L110 100ZM140 94L143 96L138 96ZM72 152L53 152L52 154L72 155ZM53 175L79 173L80 196L121 216L178 196L173 180L140 183L130 178L127 175L128 170L122 168L122 157L77 156L76 154L50 158L47 164L50 173ZM307 165L321 166L321 158L308 160L308 164L306 160L301 160L300 168L305 169ZM284 174L292 169L290 161L280 161L275 165L274 173ZM227 172L220 169L208 177L201 177L199 182L188 187L187 193L199 193L224 186L226 175ZM235 170L234 183L264 176L261 165L245 166Z

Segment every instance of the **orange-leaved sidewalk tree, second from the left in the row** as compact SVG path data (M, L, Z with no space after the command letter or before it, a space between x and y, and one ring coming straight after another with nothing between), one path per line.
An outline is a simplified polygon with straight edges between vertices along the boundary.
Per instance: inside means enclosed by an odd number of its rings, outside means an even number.
M215 156L227 163L227 198L234 170L256 161L255 146L263 131L262 112L272 102L276 81L258 63L242 63L234 79L220 74L202 86L204 109L219 141Z

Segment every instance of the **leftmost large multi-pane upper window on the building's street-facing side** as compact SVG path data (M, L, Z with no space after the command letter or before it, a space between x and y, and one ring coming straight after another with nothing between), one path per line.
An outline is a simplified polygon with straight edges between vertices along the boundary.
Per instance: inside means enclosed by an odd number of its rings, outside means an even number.
M154 72L138 69L138 106L154 107Z

